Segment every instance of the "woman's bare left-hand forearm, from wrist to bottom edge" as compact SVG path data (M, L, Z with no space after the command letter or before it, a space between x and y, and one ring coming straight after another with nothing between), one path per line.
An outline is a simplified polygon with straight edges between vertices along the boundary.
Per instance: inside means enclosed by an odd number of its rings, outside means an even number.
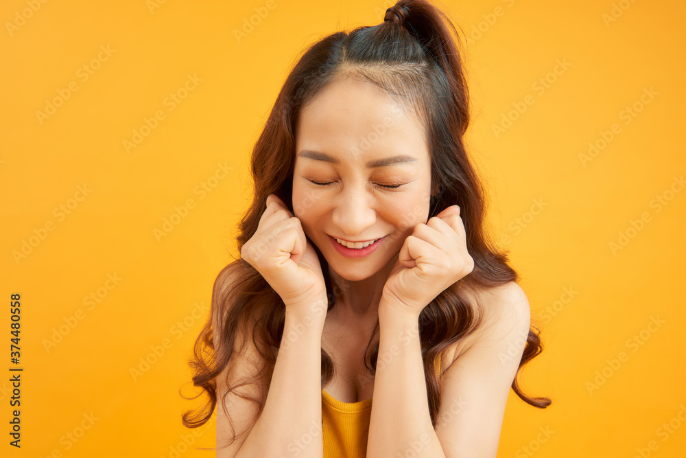
M323 327L324 317L286 308L265 407L236 458L323 458Z

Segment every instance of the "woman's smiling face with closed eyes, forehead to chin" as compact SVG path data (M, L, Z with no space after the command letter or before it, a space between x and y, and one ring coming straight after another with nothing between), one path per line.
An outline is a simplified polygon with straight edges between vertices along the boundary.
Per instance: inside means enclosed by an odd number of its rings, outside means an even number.
M430 197L423 126L379 87L339 80L300 112L294 214L340 276L366 279L394 262L414 227L427 222ZM383 239L363 255L335 238Z

